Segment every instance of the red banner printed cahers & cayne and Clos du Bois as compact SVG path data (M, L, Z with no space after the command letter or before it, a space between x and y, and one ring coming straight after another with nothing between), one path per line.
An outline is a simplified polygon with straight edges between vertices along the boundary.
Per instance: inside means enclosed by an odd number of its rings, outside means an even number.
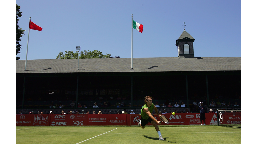
M88 125L126 125L127 114L88 114Z

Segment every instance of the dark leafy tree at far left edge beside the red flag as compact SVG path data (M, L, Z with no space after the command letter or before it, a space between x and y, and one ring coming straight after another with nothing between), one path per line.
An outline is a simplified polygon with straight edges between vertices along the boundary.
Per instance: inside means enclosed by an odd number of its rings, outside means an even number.
M17 54L20 53L21 45L20 38L24 35L24 31L18 26L19 17L22 17L22 12L20 11L20 6L16 4L16 60L19 60L20 57L17 57Z

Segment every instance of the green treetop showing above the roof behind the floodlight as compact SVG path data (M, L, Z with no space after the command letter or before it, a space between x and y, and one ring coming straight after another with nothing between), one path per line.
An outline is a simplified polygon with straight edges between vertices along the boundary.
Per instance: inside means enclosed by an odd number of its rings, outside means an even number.
M75 53L73 51L65 51L65 53L60 52L56 59L77 59L78 58L78 51ZM79 53L79 58L113 58L110 54L103 55L101 51L87 51L84 50ZM115 58L120 58L119 56L115 56Z

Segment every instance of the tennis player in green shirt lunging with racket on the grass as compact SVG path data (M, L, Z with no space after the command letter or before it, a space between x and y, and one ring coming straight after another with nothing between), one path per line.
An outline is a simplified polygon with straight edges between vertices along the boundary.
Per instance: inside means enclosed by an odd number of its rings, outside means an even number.
M164 140L159 130L159 127L157 126L158 124L160 124L160 121L156 120L152 114L153 110L155 110L156 114L159 117L161 116L159 115L156 106L152 103L152 97L146 96L144 101L145 101L145 105L141 108L141 114L140 114L141 118L139 122L139 127L144 129L146 124L150 122L155 127L159 135L159 140Z

